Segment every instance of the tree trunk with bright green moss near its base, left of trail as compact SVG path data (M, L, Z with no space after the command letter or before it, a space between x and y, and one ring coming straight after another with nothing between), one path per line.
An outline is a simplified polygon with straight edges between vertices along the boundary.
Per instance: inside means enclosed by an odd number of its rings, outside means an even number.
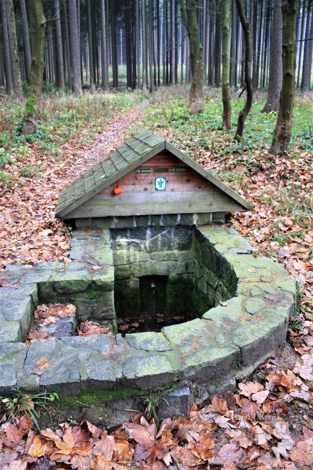
M30 0L31 11L31 73L28 98L23 117L26 135L36 128L41 101L42 76L44 71L45 24L41 0Z

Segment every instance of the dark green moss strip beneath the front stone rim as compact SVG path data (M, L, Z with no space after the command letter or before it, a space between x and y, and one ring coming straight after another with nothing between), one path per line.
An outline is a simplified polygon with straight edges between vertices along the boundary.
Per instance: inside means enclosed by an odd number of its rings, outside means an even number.
M110 403L110 401L119 400L127 397L145 396L149 392L145 390L137 390L132 387L120 386L113 390L91 390L86 388L78 393L78 395L68 395L60 402L60 407L77 410L82 406L91 407L98 406L102 403Z

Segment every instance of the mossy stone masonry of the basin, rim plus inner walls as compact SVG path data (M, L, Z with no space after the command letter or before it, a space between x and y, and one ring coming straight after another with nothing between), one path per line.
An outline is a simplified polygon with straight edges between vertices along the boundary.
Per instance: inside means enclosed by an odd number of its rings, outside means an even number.
M0 288L1 393L17 388L64 397L86 387L127 385L151 390L178 382L181 395L169 396L174 406L181 400L189 403L190 390L200 400L214 386L219 390L235 386L234 376L247 375L282 344L296 299L295 284L282 266L269 258L254 258L252 247L231 228L204 226L192 232L187 226L153 226L149 230L152 236L145 242L153 253L149 262L137 239L127 243L118 236L114 239L119 261L115 272L108 230L74 232L68 264L6 267L4 277L11 279L13 287ZM191 239L194 251L189 250ZM164 249L170 250L165 256ZM165 327L161 333L126 334L125 338L62 336L57 341L33 341L28 347L20 342L38 296L70 301L83 320L92 315L95 320L114 322L114 275L117 279L126 274L171 276L177 263L182 273L188 265L186 275L194 285L198 282L204 297L214 298L216 306L201 319ZM73 332L74 322L70 329Z

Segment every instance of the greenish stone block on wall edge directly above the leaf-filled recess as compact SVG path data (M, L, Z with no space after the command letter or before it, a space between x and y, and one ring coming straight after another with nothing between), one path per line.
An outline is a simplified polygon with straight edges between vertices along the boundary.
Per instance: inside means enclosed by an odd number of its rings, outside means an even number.
M91 284L91 276L87 271L63 271L54 273L51 283L56 292L65 294L84 292Z

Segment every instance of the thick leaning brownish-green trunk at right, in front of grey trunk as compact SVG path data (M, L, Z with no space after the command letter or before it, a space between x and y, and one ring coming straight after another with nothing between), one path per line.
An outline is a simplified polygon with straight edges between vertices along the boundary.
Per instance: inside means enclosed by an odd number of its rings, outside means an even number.
M282 91L270 153L284 155L288 151L296 74L296 14L297 0L282 0Z

